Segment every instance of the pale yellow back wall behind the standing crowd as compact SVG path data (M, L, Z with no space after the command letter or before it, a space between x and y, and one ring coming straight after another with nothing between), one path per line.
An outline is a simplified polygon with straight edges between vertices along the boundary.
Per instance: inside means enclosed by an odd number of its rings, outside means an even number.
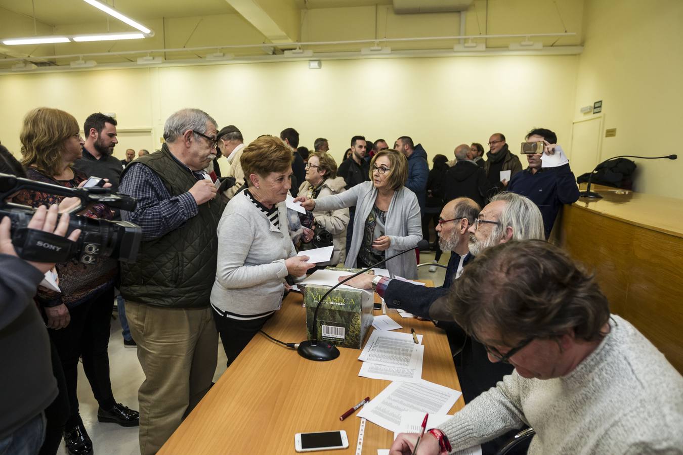
M301 145L329 139L339 159L351 136L413 136L430 156L452 158L460 143L486 143L503 132L512 149L533 126L568 141L578 57L458 57L186 66L0 77L0 140L18 153L21 119L36 106L64 109L79 123L89 113L116 113L120 130L152 129L187 107L219 126L234 123L247 141L292 126ZM549 101L551 100L551 101ZM142 144L125 143L116 149ZM146 148L146 147L145 147Z

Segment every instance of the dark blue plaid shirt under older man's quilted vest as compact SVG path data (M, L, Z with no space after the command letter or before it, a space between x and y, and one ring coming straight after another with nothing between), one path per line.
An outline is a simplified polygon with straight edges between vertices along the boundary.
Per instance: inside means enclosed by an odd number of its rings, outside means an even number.
M189 168L187 170L192 172ZM197 173L193 175L197 180L202 178ZM161 177L148 166L136 162L130 163L119 192L137 199L135 211L122 210L121 216L142 228L143 241L153 240L179 229L199 211L190 192L171 197Z

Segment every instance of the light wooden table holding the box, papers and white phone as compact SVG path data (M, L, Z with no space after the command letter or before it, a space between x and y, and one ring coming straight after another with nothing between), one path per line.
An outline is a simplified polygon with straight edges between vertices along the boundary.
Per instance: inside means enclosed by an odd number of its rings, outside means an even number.
M264 331L285 342L305 340L301 303L301 294L290 293ZM423 334L423 379L460 390L445 332L429 321L388 314L403 326L399 332L412 327ZM359 377L361 351L339 351L331 362L313 362L257 334L158 453L296 454L295 433L326 430L346 430L349 448L316 454L354 453L361 420L352 415L340 422L339 416L391 382ZM463 406L461 396L449 413ZM392 432L367 422L363 454L376 455L392 441Z

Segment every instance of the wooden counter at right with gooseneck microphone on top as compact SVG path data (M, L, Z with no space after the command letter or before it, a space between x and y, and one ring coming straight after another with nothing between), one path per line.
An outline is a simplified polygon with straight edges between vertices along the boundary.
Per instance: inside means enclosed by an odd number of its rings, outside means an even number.
M683 201L593 189L604 199L564 207L560 243L595 272L612 312L683 372Z

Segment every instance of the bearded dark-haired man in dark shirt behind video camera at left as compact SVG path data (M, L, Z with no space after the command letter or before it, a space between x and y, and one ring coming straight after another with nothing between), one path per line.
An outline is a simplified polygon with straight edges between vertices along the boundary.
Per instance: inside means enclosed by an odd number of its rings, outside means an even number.
M121 160L112 153L119 141L116 139L116 120L102 113L91 114L83 123L85 144L83 158L74 162L74 167L88 177L109 179L113 191L119 188L123 167Z

